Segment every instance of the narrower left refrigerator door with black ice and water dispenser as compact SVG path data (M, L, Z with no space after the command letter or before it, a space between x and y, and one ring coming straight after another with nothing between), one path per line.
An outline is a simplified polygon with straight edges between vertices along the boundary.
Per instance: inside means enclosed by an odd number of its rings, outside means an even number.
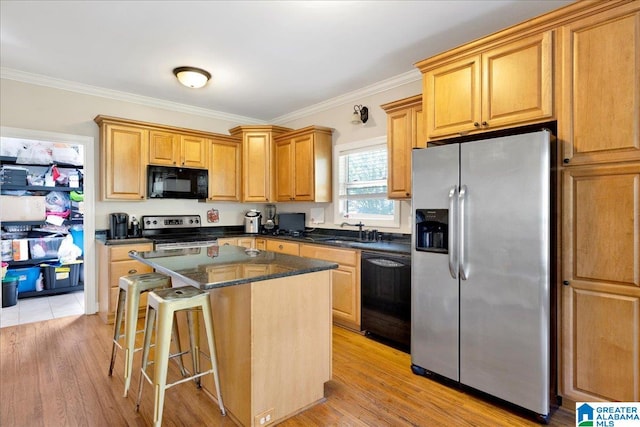
M414 150L412 158L411 361L457 381L458 279L449 271L449 254L416 251L415 212L449 209L449 193L459 182L459 145Z

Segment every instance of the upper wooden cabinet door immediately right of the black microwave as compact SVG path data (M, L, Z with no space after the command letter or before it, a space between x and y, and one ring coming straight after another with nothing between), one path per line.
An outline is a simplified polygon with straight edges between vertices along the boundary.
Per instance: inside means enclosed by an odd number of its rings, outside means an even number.
M240 201L242 150L239 142L213 140L209 166L209 200Z

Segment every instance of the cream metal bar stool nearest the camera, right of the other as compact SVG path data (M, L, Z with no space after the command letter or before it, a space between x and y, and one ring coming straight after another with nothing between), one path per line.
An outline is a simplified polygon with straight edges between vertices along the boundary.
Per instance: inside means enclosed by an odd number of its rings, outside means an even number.
M168 362L171 357L169 354L170 331L174 326L175 314L179 311L187 311L189 345L194 372L192 372L191 376L184 377L178 381L167 384ZM209 360L211 362L211 369L205 372L200 372L201 353L198 331L199 312L202 312L202 317L204 318L207 341L209 344ZM152 362L154 365L152 379L147 372L147 366L150 364L149 346L151 343L151 335L153 334L154 323L156 324L156 347L154 360ZM142 369L140 375L140 387L138 387L136 410L140 409L142 386L144 384L144 379L146 379L154 387L155 401L153 424L154 426L160 426L162 424L162 411L164 407L164 394L166 389L192 379L195 380L198 387L200 387L200 377L207 374L213 374L213 381L215 382L216 393L218 395L218 406L220 406L222 415L226 415L224 405L222 403L222 394L220 393L220 382L218 379L218 362L216 358L215 341L213 338L213 317L209 294L192 286L161 289L149 292L149 296L147 297L147 318L144 329L144 344L142 347Z

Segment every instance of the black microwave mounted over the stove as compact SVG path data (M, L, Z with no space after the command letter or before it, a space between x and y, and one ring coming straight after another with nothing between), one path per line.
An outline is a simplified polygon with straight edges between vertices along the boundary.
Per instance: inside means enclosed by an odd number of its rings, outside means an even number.
M209 172L205 169L147 166L150 199L206 199Z

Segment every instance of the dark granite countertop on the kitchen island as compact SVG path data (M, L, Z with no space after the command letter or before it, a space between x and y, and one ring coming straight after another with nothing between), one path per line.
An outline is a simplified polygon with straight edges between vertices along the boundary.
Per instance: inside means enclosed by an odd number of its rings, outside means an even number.
M338 268L332 262L239 246L130 252L129 256L204 290Z

